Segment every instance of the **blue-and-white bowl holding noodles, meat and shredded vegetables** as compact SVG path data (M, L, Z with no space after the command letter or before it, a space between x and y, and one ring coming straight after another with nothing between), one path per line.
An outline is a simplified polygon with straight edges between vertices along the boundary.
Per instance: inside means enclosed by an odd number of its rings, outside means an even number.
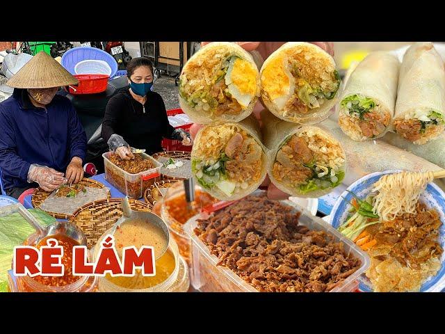
M348 216L348 210L351 208L350 201L353 199L353 194L348 191L353 191L359 198L365 198L371 193L375 182L380 180L385 174L397 173L400 170L387 170L385 172L377 172L366 175L357 180L344 191L335 202L330 215L330 224L333 228L339 228L344 223ZM346 199L346 200L345 200ZM426 191L420 196L420 200L424 202L427 207L435 208L439 212L442 226L439 229L439 244L445 249L445 193L436 184L430 183L426 187ZM421 286L420 292L439 292L445 287L445 252L442 254L442 267L437 271L436 276L429 278ZM363 274L359 278L359 289L364 292L372 292L371 282Z

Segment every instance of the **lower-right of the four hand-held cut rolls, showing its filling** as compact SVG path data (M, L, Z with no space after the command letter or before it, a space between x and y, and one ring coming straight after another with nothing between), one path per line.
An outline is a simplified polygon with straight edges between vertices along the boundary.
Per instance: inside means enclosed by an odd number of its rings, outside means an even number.
M261 111L270 181L291 196L316 198L341 184L346 153L327 130L296 125Z

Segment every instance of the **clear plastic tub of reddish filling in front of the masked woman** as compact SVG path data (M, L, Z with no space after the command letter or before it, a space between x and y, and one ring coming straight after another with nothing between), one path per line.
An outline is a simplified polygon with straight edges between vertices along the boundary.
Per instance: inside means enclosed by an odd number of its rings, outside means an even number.
M108 159L110 154L112 154L112 152L102 154L102 157L104 157L105 180L113 184L116 189L128 197L142 198L145 189L149 188L156 178L161 175L160 170L162 164L148 154L141 153L144 159L149 159L156 167L137 174L127 173L122 168L115 166L115 164Z

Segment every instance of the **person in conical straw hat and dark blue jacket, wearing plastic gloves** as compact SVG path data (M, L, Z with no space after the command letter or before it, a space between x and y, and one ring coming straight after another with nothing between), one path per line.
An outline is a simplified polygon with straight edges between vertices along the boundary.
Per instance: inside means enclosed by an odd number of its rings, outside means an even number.
M70 100L56 95L77 79L40 52L6 84L15 88L0 103L0 177L6 195L18 198L38 185L53 191L79 182L86 134Z

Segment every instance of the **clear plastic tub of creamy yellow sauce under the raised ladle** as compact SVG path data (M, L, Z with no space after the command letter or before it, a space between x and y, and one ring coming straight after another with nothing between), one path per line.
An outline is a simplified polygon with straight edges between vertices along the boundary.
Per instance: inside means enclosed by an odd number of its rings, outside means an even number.
M97 255L102 239L110 232L106 231L102 237L97 241L96 247L92 249L94 252L94 257ZM168 244L168 250L175 257L175 269L170 274L170 276L164 280L162 283L155 285L154 287L149 287L147 289L130 289L126 287L120 287L115 285L106 277L99 277L99 292L187 292L188 287L190 287L190 278L188 276L188 266L184 259L179 255L178 246L176 241L170 238L170 243Z

